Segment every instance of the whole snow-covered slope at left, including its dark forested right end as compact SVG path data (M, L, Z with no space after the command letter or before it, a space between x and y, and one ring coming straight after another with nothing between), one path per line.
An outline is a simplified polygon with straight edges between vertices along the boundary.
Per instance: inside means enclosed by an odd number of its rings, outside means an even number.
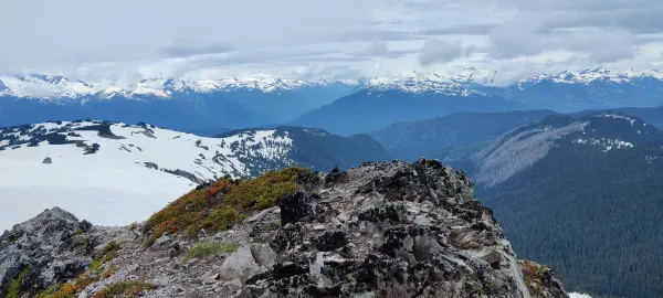
M387 156L369 137L295 127L222 138L92 120L2 128L0 170L11 174L0 179L0 230L53 205L102 224L127 224L227 174L250 177L295 163L347 168L360 158ZM110 210L117 212L105 212Z

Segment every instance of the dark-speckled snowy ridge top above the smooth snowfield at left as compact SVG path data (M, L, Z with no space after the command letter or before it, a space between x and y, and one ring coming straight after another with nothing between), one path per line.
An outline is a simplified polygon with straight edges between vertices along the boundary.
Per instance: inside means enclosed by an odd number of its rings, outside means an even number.
M77 153L88 156L86 159L123 160L151 170L180 171L200 183L225 174L251 175L255 164L248 159L287 163L293 140L287 131L283 136L275 132L256 129L225 138L203 138L146 124L52 121L0 129L0 151L2 158L43 151L66 158ZM95 145L97 149L93 149Z

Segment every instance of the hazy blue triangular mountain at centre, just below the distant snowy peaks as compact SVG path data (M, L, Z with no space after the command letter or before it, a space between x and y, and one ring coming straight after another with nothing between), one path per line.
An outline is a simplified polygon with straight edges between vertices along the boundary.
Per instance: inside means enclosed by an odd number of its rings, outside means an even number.
M293 121L338 135L370 132L393 123L430 119L456 111L504 111L518 105L472 89L369 88L319 107Z

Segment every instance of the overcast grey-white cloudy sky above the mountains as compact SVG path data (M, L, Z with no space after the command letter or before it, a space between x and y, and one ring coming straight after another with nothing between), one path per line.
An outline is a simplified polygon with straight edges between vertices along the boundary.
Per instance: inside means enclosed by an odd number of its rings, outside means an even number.
M660 68L661 15L660 0L0 0L0 72L133 81Z

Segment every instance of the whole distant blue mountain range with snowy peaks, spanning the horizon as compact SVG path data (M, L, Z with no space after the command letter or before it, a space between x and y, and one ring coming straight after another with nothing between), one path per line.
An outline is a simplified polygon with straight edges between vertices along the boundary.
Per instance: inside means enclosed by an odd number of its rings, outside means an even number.
M570 113L663 105L663 73L657 71L617 73L596 68L541 74L495 86L502 81L499 75L465 68L448 74L401 73L348 81L155 78L135 84L0 75L0 125L93 118L145 121L204 135L212 134L211 128L280 124L351 135L455 111Z

